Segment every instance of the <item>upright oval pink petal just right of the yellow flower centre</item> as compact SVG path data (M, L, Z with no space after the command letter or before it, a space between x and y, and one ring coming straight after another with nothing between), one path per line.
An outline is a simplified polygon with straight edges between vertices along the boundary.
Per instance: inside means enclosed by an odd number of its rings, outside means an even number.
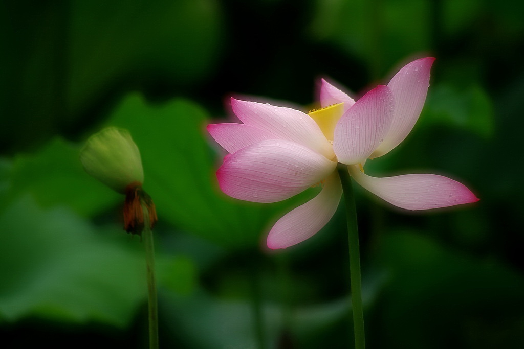
M335 127L333 150L347 165L366 161L384 140L393 112L393 96L379 85L366 93L340 118Z

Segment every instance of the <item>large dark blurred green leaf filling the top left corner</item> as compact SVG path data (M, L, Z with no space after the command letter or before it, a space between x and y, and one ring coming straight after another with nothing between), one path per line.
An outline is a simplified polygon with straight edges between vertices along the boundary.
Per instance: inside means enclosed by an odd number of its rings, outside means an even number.
M194 86L222 40L217 0L2 3L0 149L92 122L130 86Z

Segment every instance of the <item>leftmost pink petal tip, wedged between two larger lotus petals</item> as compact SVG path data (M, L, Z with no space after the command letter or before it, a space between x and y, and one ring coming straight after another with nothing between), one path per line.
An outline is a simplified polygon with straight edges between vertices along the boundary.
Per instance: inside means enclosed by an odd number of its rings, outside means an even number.
M268 139L278 139L274 134L243 123L215 123L207 127L211 137L222 148L234 153L249 144Z

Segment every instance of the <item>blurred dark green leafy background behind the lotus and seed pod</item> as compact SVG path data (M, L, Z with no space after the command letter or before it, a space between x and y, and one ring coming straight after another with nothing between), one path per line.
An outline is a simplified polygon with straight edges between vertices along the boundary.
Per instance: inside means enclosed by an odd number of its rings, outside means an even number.
M352 347L343 204L267 251L315 189L226 197L205 125L232 95L307 111L320 77L359 96L432 56L419 122L366 172L445 174L481 201L413 214L357 190L367 344L524 347L523 15L512 0L2 2L0 346L147 346L143 246L78 160L113 125L158 209L161 347Z

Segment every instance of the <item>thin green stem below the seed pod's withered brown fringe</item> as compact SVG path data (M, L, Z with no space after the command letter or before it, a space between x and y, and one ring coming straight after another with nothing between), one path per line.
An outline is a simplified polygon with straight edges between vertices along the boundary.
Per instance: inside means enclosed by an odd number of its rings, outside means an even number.
M149 221L149 211L146 205L142 205L144 211L144 230L142 237L146 249L147 265L147 291L148 291L148 313L149 313L149 349L158 349L158 301L157 284L155 281L155 246L153 245L153 232Z

